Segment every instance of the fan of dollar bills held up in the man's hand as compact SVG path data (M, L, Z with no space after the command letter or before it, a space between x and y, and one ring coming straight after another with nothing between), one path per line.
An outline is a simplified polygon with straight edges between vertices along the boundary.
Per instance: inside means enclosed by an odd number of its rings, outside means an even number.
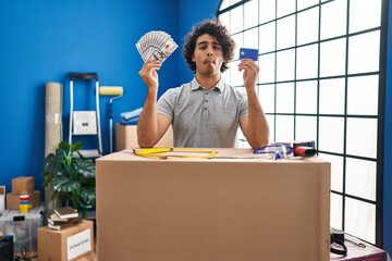
M137 51L145 62L163 62L177 47L172 37L162 30L151 30L136 44Z

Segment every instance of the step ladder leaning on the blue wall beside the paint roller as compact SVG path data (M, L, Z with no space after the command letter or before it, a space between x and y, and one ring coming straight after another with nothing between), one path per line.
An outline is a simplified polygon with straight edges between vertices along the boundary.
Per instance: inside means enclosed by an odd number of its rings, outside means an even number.
M74 82L75 80L95 80L95 111L74 111ZM72 145L73 136L97 136L96 149L79 150L86 158L102 157L102 138L99 119L99 80L97 73L70 73L70 132L69 142ZM76 156L75 156L76 157Z

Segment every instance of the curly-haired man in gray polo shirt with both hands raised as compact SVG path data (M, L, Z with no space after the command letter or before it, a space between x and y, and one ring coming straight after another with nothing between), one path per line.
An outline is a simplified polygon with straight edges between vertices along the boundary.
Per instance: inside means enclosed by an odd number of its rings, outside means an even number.
M137 124L140 147L154 147L170 124L174 147L233 148L238 126L253 148L266 146L269 127L256 94L259 67L242 59L246 94L224 83L235 42L218 20L204 21L185 37L183 55L195 77L191 83L168 89L157 102L161 63L146 62L139 75L148 87Z

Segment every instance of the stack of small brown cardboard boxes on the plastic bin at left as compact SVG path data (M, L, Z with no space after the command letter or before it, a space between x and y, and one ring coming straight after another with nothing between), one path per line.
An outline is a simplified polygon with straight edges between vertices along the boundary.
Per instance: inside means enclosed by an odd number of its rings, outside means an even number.
M20 196L29 195L32 208L39 207L40 191L34 189L33 176L20 176L12 179L11 192L7 194L7 208L12 210L20 209Z

